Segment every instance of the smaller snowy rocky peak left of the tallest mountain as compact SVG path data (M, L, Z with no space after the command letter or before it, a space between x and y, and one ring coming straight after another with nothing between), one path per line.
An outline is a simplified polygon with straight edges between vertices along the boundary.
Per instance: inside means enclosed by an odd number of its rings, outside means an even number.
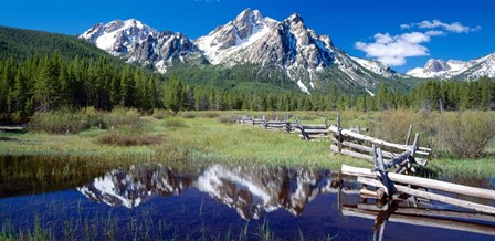
M159 32L139 20L115 20L98 23L80 35L127 62L138 62L166 72L173 61L202 63L200 50L182 33Z

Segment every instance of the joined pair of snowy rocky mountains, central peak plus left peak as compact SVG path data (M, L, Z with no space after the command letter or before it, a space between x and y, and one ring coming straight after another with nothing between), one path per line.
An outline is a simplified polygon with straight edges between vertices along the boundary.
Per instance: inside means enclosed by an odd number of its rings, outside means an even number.
M406 77L382 63L349 56L328 35L307 28L297 13L276 21L246 9L196 41L181 33L158 32L134 19L99 23L80 38L159 72L177 65L225 70L249 65L256 80L275 77L267 82L291 82L308 94L328 90L330 84L372 94L380 83L404 85L397 80Z

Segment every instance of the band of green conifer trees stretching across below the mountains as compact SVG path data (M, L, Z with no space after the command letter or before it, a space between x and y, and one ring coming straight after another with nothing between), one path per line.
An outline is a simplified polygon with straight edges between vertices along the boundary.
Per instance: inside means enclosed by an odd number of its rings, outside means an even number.
M409 93L381 85L375 96L341 94L334 85L328 94L293 91L221 90L187 85L185 81L105 57L65 60L60 54L33 55L25 61L0 61L0 120L23 122L34 112L117 106L150 113L155 108L179 111L428 111L495 109L495 82L428 81Z

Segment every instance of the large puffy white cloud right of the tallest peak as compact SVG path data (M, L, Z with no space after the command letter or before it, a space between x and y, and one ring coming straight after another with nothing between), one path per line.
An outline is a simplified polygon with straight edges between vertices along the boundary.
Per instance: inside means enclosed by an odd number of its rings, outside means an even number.
M367 57L377 59L390 66L403 65L407 57L429 55L426 46L421 43L429 42L430 35L421 32L390 35L389 33L375 34L375 42L356 42L355 48L364 51Z

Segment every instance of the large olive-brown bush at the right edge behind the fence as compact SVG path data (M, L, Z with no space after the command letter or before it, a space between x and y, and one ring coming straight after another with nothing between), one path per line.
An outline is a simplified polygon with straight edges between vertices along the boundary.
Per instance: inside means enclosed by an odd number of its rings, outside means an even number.
M492 113L445 113L435 122L438 139L454 158L477 158L495 136Z

